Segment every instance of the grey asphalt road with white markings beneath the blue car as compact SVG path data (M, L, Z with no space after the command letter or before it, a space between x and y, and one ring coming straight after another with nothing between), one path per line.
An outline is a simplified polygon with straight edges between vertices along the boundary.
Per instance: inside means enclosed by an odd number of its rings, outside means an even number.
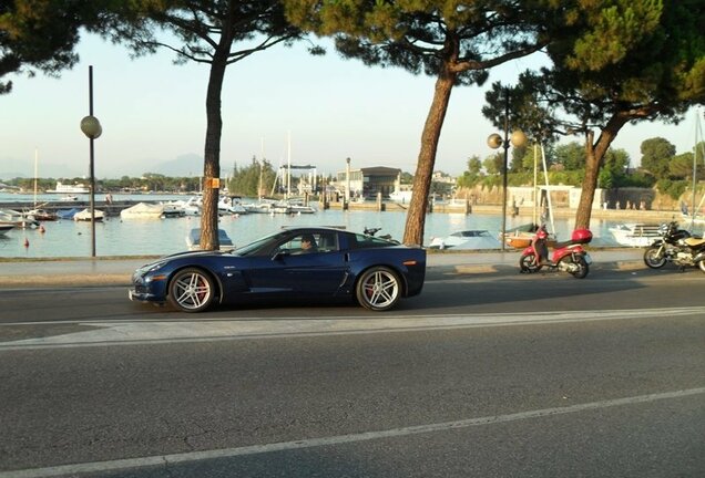
M699 477L705 276L432 270L392 313L0 291L0 478Z

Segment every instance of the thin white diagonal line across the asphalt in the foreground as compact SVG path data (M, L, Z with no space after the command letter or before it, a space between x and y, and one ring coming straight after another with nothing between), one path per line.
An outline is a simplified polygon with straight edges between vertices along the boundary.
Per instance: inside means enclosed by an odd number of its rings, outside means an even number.
M323 446L335 446L344 444L355 444L374 439L399 438L410 435L439 433L452 429L469 428L473 426L493 425L522 419L534 419L555 415L566 415L593 409L603 409L616 406L635 405L651 403L663 399L673 399L701 395L705 393L705 387L688 388L674 392L663 392L648 395L637 395L625 398L605 399L599 402L589 402L565 407L543 408L529 412L520 412L507 415L491 415L478 418L467 418L454 422L443 422L428 425L417 425L401 428L392 428L387 430L364 432L349 435L336 435L319 438L304 438L294 441L279 441L273 444L251 445L235 448L222 448L202 451L191 451L172 455L155 455L151 457L129 458L110 461L94 461L74 465L61 465L47 468L32 468L16 471L0 471L0 478L48 478L64 475L78 475L88 472L112 472L123 469L134 469L143 467L167 467L180 463L204 461L216 458L234 458L238 456L260 455L265 453L315 448Z

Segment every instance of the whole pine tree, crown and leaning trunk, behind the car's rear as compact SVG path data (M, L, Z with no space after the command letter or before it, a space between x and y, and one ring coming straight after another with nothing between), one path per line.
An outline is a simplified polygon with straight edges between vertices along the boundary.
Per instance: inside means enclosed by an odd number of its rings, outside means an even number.
M488 69L540 49L546 18L540 1L284 0L289 19L334 37L346 58L436 77L403 241L421 245L428 196L452 87L482 84ZM531 8L534 7L534 8Z

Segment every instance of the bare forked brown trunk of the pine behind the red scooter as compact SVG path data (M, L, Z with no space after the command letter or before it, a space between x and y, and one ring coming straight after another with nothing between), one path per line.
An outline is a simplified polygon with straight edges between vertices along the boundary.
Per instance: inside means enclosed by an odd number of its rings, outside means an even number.
M594 133L588 131L585 134L585 179L580 195L580 202L575 211L575 229L590 229L590 218L592 216L592 204L597 188L600 167L610 145L616 137L622 126L631 119L627 113L615 113L612 115L606 126L600 133L596 143L593 143Z

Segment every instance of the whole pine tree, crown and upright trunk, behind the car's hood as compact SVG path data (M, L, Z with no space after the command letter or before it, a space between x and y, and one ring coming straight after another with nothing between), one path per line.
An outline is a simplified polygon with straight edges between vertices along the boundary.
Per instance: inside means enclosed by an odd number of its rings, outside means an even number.
M113 38L127 42L135 54L163 48L176 54L176 62L210 65L201 245L203 249L217 249L221 94L225 71L254 53L279 43L289 44L300 37L300 31L286 20L278 0L174 0L167 1L166 8L155 8L150 2L143 7L139 15L131 9L115 15L111 23ZM173 37L165 38L164 32Z

